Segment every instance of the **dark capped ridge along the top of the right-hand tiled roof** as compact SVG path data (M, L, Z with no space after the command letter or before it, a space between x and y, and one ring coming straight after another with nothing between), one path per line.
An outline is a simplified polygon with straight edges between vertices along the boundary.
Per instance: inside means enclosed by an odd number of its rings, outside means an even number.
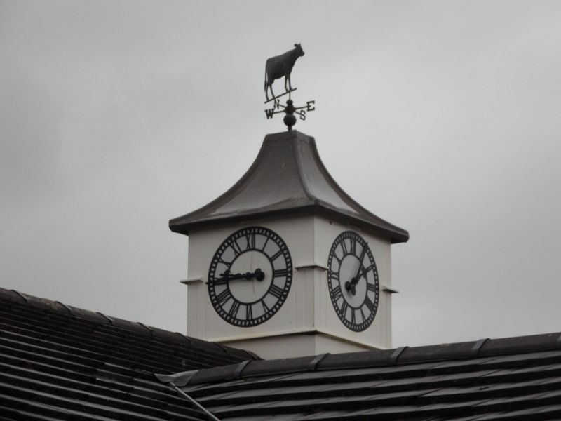
M469 360L486 356L529 354L560 349L561 332L544 333L511 338L484 338L470 342L454 342L451 344L445 343L419 347L398 347L394 349L320 356L313 355L290 359L244 361L242 363L230 364L229 366L191 370L189 375L183 379L181 378L182 374L187 373L177 373L173 377L175 377L174 382L176 385L197 385L224 380L245 379L248 377L303 373L306 371L403 366L414 363ZM319 361L317 361L318 359Z

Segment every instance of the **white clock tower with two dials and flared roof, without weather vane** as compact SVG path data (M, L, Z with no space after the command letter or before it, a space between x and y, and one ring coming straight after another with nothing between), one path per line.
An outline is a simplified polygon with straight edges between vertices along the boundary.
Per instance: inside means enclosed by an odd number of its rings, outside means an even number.
M266 359L391 347L391 245L409 234L351 199L310 136L266 135L170 229L189 236L187 335Z

